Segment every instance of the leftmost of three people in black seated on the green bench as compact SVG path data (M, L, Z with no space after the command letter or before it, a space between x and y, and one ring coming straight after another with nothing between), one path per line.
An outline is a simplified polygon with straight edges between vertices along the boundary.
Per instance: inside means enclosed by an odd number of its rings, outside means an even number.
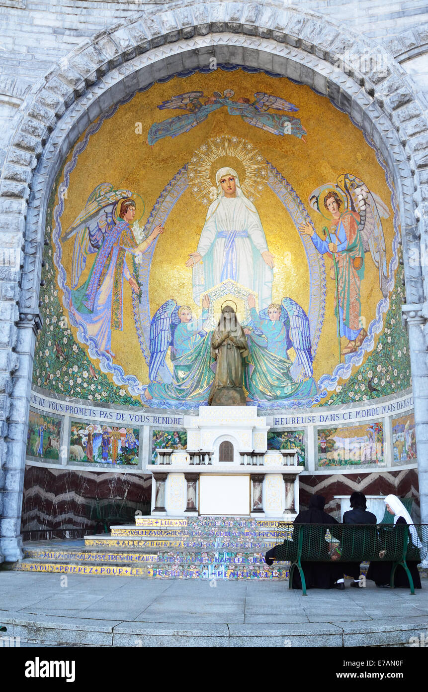
M294 525L298 524L338 524L330 514L324 512L324 505L326 504L325 498L322 495L313 495L309 500L309 509L306 511L299 512L294 520ZM294 531L293 531L294 532ZM333 529L332 529L333 533ZM331 558L328 552L328 543L325 539L326 530L320 528L319 536L315 538L316 531L314 527L312 538L313 540L319 540L319 556L324 557L327 561ZM272 549L268 550L265 556L265 562L267 565L272 565L276 554L277 545ZM315 589L331 589L331 588L342 588L335 583L337 578L337 565L333 562L301 562L301 568L305 575L306 588ZM299 570L294 570L292 575L292 588L301 589L301 579Z

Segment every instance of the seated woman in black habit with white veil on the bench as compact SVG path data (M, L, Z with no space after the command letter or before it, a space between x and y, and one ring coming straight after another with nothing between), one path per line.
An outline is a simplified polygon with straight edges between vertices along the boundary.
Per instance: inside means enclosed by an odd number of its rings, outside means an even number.
M418 532L416 531L416 526L413 524L411 516L404 504L396 497L396 495L387 495L384 498L384 503L387 505L387 510L390 514L394 515L394 529L402 524L407 524L409 526L409 541L413 545L413 552L418 556L418 549L422 547L420 538L418 537ZM393 529L393 530L394 530ZM385 529L383 529L385 531ZM387 545L387 534L385 534L385 545ZM382 535L380 535L382 542ZM388 548L380 552L380 556L384 552L385 557L388 557ZM418 563L420 559L415 561L406 560L407 567L409 567L409 572L413 579L413 585L416 589L421 589L422 585L420 583L420 574L418 572ZM367 570L366 579L371 579L374 581L376 586L389 589L389 579L391 575L392 561L386 560L382 562L371 562L369 565L369 570ZM409 579L401 565L398 565L396 573L394 574L394 586L398 588L409 588Z

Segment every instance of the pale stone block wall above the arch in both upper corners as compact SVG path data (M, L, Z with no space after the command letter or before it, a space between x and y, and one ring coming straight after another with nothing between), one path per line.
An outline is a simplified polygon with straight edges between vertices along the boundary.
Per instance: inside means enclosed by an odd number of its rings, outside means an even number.
M126 26L130 17L141 10L156 15L158 10L174 11L179 2L106 2L104 0L57 0L32 2L19 6L0 2L0 117L12 117L13 100L46 74L53 63L75 46L84 44L104 28ZM218 4L221 4L221 0ZM362 37L373 38L393 53L426 44L428 41L427 3L404 0L385 3L379 0L299 0L285 1L279 7L295 6L300 11L317 12ZM407 69L405 67L405 69ZM426 69L425 69L426 71ZM9 100L8 100L9 99ZM10 100L12 99L12 101Z

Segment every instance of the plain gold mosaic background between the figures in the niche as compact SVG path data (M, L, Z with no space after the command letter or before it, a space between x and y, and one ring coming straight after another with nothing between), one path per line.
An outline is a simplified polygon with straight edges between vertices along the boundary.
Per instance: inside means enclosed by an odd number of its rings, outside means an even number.
M147 145L147 131L153 122L178 115L183 111L159 110L157 105L173 95L185 91L201 90L204 98L213 91L234 89L234 100L243 96L253 100L257 91L272 93L299 107L296 116L301 119L308 134L306 144L294 137L279 137L251 127L239 116L230 116L222 108L211 113L207 120L191 131L171 139ZM142 134L136 134L138 123ZM149 91L138 93L131 102L121 106L115 116L105 120L89 145L80 154L75 170L70 176L67 199L62 215L62 228L71 225L84 208L87 198L96 185L112 183L114 188L127 188L139 193L145 200L142 226L156 199L165 185L189 162L192 154L208 138L225 134L244 138L266 156L303 201L318 233L326 224L317 212L310 210L308 197L322 183L335 182L342 173L359 176L387 204L389 219L382 219L387 244L387 263L391 258L393 239L393 209L391 192L385 181L382 167L375 152L366 144L362 133L353 126L346 114L333 107L327 98L316 95L307 86L292 84L286 78L270 78L267 75L250 75L243 71L225 73L217 70L210 74L196 74L189 78L174 78L166 84L154 84ZM68 157L70 158L70 156ZM309 271L299 233L282 203L267 186L262 196L254 200L266 233L268 247L275 255L273 300L288 295L306 311L309 305ZM160 237L151 264L149 297L151 315L168 298L178 304L194 307L192 299L192 271L185 267L189 253L196 251L198 239L205 221L207 208L187 190L172 210ZM140 215L137 209L136 217ZM63 264L67 275L71 271L73 239L63 245ZM290 254L288 254L290 253ZM86 280L91 261L80 277L79 285ZM284 261L291 258L290 261ZM128 262L131 268L131 262ZM329 278L330 259L326 258L327 300L322 336L314 361L315 380L337 365L336 318L334 314L334 282ZM62 297L61 297L62 298ZM126 374L135 374L147 382L148 369L142 356L131 311L131 288L124 282L124 331L113 331L111 348L117 354L116 362ZM366 271L361 286L362 316L366 325L375 316L375 309L382 294L378 282L378 270L366 253ZM199 309L195 307L196 315ZM75 329L72 328L73 336ZM94 363L97 367L97 363Z

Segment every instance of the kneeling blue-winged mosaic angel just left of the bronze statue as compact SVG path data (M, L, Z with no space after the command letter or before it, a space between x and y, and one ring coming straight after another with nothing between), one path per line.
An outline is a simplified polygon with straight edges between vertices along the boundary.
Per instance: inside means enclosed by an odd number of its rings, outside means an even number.
M204 295L201 317L195 319L188 305L178 305L176 300L167 300L153 315L150 323L149 381L145 390L148 401L156 399L198 400L206 399L213 372L210 369L210 338L207 326L210 296ZM170 349L174 372L165 365L165 356ZM163 381L159 383L158 374Z

